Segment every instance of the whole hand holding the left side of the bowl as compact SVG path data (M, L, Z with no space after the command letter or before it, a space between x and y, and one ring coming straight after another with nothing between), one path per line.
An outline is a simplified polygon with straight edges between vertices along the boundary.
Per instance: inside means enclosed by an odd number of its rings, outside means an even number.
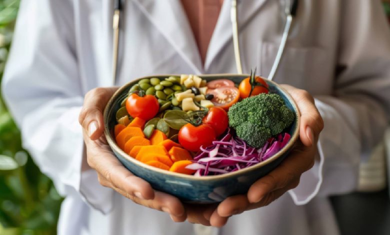
M112 154L104 132L103 109L117 87L95 88L86 93L79 115L86 146L86 160L96 170L99 183L135 203L165 211L174 221L184 221L184 207L172 195L153 190L148 182L126 169Z

